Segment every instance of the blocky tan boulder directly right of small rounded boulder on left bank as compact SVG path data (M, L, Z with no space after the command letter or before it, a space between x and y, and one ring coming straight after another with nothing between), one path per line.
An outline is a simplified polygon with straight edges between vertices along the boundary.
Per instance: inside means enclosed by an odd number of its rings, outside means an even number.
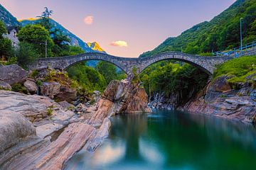
M40 86L41 94L43 96L48 96L53 99L56 94L60 93L60 84L58 82L43 82Z

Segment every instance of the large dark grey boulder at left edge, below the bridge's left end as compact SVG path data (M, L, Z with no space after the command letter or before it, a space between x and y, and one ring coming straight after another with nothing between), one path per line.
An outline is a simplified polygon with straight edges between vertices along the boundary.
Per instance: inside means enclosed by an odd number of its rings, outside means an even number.
M28 72L17 64L0 66L0 81L7 84L23 83L28 78Z

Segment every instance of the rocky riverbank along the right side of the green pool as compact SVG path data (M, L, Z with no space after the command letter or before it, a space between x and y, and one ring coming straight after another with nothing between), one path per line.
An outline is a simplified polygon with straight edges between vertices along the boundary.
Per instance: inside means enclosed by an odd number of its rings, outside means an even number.
M256 80L248 77L245 83L232 86L228 78L223 76L210 81L196 96L188 96L191 99L185 104L181 104L178 94L155 94L149 105L151 108L178 109L256 123Z

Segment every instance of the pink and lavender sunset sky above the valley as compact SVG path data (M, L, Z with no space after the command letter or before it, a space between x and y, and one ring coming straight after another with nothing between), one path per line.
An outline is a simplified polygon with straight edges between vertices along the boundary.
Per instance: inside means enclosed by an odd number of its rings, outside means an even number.
M210 21L235 0L0 0L18 20L52 18L85 42L98 42L110 55L138 57L166 38Z

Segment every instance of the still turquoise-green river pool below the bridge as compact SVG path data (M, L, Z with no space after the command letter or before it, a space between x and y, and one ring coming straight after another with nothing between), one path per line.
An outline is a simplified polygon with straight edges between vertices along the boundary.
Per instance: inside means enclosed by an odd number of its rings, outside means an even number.
M178 111L117 115L95 153L66 169L256 169L252 125Z

